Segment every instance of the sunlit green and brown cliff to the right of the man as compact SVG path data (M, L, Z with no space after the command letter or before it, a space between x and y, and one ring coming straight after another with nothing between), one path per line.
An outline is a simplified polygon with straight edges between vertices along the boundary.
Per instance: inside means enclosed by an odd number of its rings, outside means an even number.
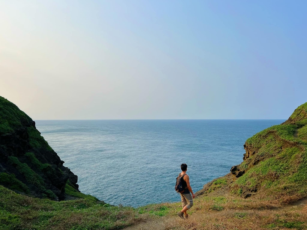
M244 144L243 162L204 185L197 195L237 194L288 203L307 194L307 102L287 121L267 128Z

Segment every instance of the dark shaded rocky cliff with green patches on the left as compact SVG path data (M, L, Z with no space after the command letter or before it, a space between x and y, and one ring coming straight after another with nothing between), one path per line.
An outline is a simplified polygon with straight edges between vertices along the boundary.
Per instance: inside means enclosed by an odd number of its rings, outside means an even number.
M0 97L0 184L18 193L64 200L66 184L78 192L78 177L41 136L35 122Z

